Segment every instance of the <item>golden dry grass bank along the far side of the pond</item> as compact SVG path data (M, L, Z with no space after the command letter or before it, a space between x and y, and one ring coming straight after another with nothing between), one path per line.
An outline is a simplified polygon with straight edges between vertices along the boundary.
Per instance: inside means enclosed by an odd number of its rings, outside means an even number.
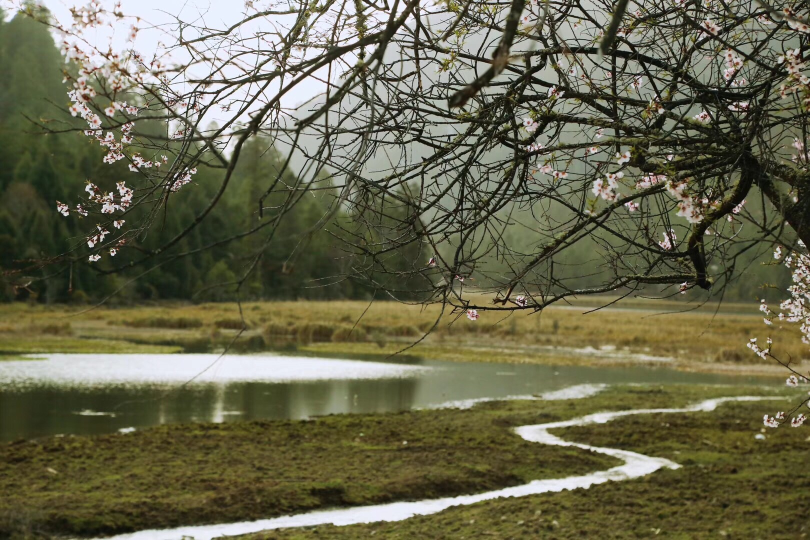
M623 308L583 312L599 300L552 306L541 314L479 321L445 315L438 306L360 301L159 304L134 308L0 306L0 352L301 351L390 355L433 329L409 354L433 359L543 364L631 364L640 355L674 359L676 367L773 365L745 347L751 337L774 335L774 352L803 359L808 348L795 327L767 327L756 306L725 304L723 311L686 304L625 301ZM607 302L609 299L601 299ZM363 315L364 314L364 315ZM361 317L362 316L362 317ZM435 328L434 328L435 325ZM599 354L614 348L621 354ZM774 370L782 375L782 370Z

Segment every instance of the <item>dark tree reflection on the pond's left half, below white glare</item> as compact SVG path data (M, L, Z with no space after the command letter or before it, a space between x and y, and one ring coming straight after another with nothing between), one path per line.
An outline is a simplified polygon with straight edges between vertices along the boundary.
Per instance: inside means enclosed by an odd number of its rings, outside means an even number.
M410 408L417 381L312 381L104 389L29 387L0 392L0 440L58 433L100 434L122 427L237 419L301 419ZM115 416L77 415L82 410ZM236 412L241 414L233 414Z

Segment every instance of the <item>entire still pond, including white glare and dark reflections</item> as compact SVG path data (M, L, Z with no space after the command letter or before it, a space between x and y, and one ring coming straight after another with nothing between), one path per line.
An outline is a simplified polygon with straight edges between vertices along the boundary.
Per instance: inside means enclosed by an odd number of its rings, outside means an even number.
M0 440L162 423L303 419L531 395L582 384L744 384L667 368L288 355L36 355L0 361Z

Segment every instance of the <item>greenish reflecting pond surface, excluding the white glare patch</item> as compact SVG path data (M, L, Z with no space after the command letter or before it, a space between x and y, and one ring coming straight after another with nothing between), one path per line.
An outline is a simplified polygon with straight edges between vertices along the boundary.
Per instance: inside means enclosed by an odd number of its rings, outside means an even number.
M728 376L669 369L552 367L531 364L458 364L408 379L243 382L70 388L28 386L0 390L0 440L58 433L100 434L122 427L238 419L301 419L334 413L407 410L463 398L541 393L583 382L608 384L729 382ZM734 379L736 384L760 380ZM116 416L81 416L81 410ZM239 411L241 414L229 414Z

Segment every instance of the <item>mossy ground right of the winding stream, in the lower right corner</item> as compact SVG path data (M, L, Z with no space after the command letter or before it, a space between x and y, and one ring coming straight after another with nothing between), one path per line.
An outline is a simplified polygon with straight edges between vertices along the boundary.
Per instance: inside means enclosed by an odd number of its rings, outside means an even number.
M671 389L642 395L645 406L683 403ZM627 402L621 395L613 398L616 405ZM319 525L242 538L807 538L807 428L770 429L765 440L755 439L762 415L785 406L735 402L711 413L633 415L555 430L566 440L667 457L682 465L678 470L587 490L485 501L395 523Z

